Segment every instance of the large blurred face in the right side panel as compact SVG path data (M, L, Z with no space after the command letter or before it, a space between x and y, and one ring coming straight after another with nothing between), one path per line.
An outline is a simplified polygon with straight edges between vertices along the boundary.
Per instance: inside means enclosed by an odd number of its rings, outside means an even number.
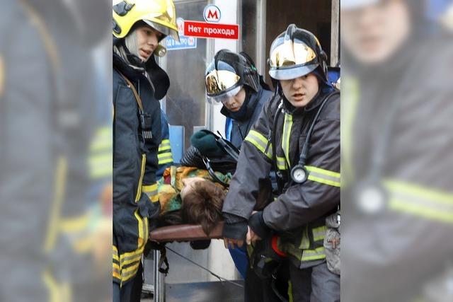
M341 11L342 45L363 64L389 59L406 41L411 20L405 0Z

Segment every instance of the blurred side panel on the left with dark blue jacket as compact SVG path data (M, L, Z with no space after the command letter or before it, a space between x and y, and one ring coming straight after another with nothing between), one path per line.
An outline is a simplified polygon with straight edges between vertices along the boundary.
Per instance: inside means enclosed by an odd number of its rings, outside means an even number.
M110 0L1 0L0 301L111 301Z

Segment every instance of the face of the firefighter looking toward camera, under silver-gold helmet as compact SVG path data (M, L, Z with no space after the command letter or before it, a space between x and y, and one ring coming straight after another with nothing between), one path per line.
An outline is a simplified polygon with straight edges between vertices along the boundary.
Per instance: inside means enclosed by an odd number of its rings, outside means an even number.
M314 74L306 74L292 80L280 80L280 85L289 103L296 108L310 103L319 90L318 78Z

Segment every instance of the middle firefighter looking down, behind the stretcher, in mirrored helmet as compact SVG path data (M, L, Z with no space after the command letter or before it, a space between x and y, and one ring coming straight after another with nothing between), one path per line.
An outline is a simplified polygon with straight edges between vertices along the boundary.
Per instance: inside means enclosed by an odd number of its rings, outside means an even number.
M226 117L225 135L231 144L240 149L263 105L272 92L258 74L248 54L220 50L205 72L207 100L222 103ZM248 260L246 249L229 249L241 276L246 278Z

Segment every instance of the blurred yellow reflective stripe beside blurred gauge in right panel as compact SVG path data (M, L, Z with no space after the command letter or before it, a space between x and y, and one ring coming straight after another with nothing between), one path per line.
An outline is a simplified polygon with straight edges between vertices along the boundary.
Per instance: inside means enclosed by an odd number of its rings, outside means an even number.
M453 223L453 194L399 180L385 180L391 211Z

